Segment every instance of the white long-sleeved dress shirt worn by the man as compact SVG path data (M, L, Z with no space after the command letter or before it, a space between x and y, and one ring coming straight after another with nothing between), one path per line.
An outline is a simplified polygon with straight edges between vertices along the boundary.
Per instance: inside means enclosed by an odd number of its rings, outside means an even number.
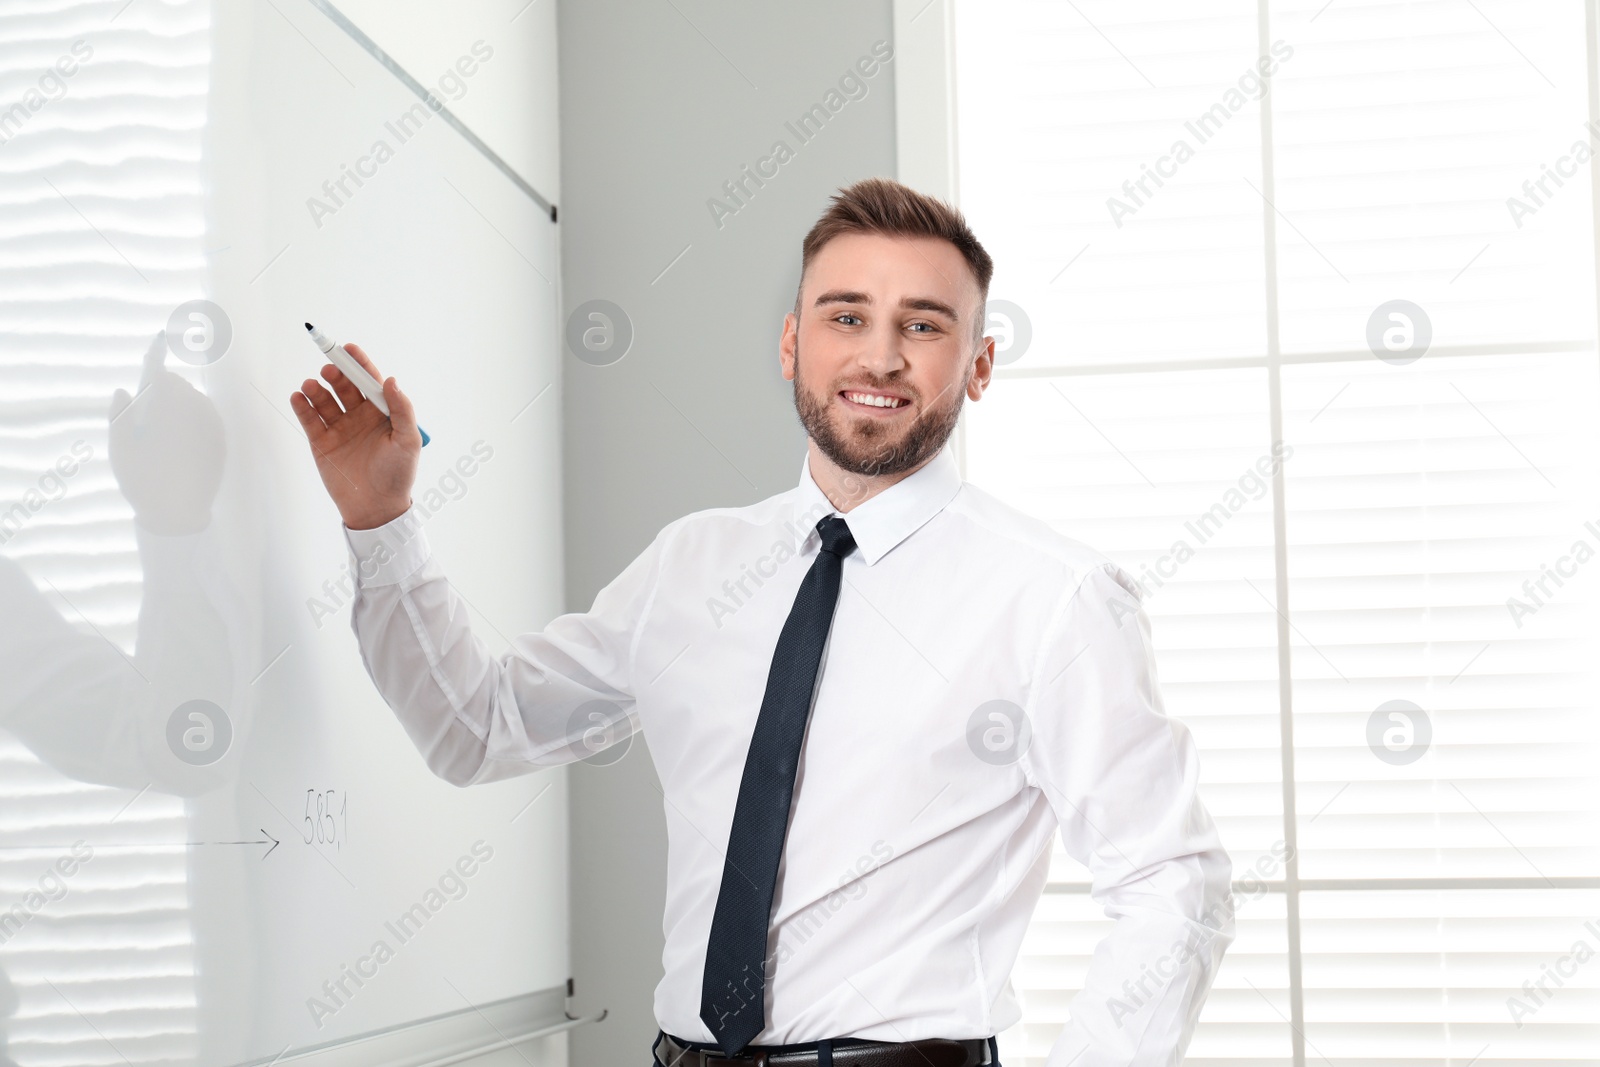
M634 731L666 797L661 1029L699 1019L706 942L778 633L837 514L800 485L669 523L586 613L490 654L414 509L347 530L350 625L427 765L458 784ZM773 899L757 1045L989 1037L1051 841L1115 923L1048 1067L1174 1064L1234 937L1232 864L1165 715L1133 581L963 483L949 450L845 515L838 606ZM614 755L614 753L613 753ZM598 757L597 761L606 757Z

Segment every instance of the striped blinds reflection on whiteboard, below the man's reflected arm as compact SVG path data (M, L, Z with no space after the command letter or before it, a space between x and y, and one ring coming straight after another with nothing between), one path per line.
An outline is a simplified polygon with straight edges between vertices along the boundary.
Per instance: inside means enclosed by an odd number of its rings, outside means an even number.
M192 1062L184 849L114 846L184 841L189 824L182 801L134 795L0 734L0 915L21 920L0 925L0 1049L18 1067Z

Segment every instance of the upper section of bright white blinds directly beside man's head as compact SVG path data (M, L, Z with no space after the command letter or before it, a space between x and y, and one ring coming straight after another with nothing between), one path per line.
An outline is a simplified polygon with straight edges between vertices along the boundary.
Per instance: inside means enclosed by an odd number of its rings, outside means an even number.
M1035 326L1018 366L1259 354L1259 106L1222 101L1256 5L963 0L957 35L962 210Z

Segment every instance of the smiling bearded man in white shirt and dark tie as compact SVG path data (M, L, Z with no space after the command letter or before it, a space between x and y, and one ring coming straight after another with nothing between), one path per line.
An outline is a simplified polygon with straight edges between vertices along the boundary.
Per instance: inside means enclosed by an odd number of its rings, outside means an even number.
M946 450L994 370L992 270L949 205L842 189L779 342L798 486L669 523L587 613L499 657L410 510L421 438L398 384L392 422L331 365L338 398L312 379L291 397L350 550L379 560L350 617L368 672L437 774L650 737L656 1062L997 1062L1056 832L1117 921L1048 1067L1187 1046L1234 936L1232 865L1138 589Z

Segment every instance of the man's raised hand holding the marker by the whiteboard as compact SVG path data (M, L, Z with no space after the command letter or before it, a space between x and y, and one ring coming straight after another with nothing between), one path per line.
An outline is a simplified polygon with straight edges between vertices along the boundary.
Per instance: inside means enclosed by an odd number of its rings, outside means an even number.
M344 525L371 530L411 507L422 435L416 429L411 400L400 392L395 379L384 379L358 346L347 344L344 350L384 384L389 418L333 363L322 368L333 392L315 378L307 378L301 392L290 395L290 406L299 416L317 474Z

